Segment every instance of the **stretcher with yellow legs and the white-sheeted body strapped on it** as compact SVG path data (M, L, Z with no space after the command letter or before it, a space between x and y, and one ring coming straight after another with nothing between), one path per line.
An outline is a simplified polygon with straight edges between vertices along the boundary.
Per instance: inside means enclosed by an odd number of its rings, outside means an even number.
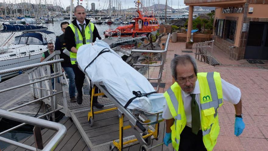
M121 151L123 146L138 141L141 149L147 151L152 139L158 139L159 123L164 121L163 94L157 94L143 75L122 61L103 41L79 47L77 62L86 80L93 86L88 112L90 126L94 124L94 114L117 110L119 139L110 144L110 150ZM96 87L101 90L100 93L95 94ZM94 111L93 97L100 95L106 95L116 107ZM129 120L129 125L123 125L124 118ZM126 129L132 130L136 139L124 142L123 131Z

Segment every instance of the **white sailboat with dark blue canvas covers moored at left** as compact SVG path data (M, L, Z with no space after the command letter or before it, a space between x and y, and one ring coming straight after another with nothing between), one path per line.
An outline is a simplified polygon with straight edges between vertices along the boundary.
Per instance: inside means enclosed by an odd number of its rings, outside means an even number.
M37 26L23 26L23 25L13 25L18 26L14 27L12 30L12 25L3 25L2 32L12 32L15 34L16 29L21 29L23 32L20 36L16 36L12 45L6 46L5 44L10 40L8 37L3 45L0 47L0 70L10 69L14 67L20 67L24 65L29 65L33 63L39 63L41 59L41 54L47 51L47 40L44 37L44 33L52 34L53 32L46 31L46 27L37 27ZM24 28L24 30L22 30ZM35 28L35 29L34 29ZM31 29L31 30L27 30ZM8 73L0 75L1 79L12 77L18 73Z

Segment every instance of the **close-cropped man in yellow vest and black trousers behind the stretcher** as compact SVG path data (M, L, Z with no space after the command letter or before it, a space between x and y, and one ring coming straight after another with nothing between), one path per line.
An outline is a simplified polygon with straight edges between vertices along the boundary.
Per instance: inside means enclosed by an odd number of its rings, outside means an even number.
M74 9L74 15L76 16L76 19L65 29L65 41L67 50L70 51L70 60L75 74L77 89L76 102L82 104L82 88L85 74L79 70L78 65L76 64L76 53L80 46L95 42L96 38L101 39L101 37L95 25L91 23L90 20L86 19L86 12L83 6L77 5ZM92 88L90 88L90 95L91 91ZM98 93L98 91L95 90L95 93ZM93 106L96 106L97 108L103 107L102 104L97 102L97 97L93 97Z

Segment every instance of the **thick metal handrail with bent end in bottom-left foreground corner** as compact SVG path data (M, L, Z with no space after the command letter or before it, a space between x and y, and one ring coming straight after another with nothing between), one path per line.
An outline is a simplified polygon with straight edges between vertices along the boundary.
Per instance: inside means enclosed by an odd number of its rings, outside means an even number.
M58 143L65 136L66 131L67 131L65 126L62 124L51 122L48 120L42 120L42 119L38 119L35 117L30 117L30 116L26 116L26 115L22 115L22 114L18 114L18 113L13 113L13 112L1 110L1 109L0 109L0 117L23 122L26 124L37 125L37 126L42 127L42 128L48 128L48 129L52 129L52 130L57 131L57 133L48 142L48 144L46 146L44 146L44 149L42 149L43 151L54 150L56 148L56 146L58 145ZM28 149L28 150L32 150L32 151L40 150L40 149L36 149L35 147L28 146L28 145L25 145L25 144L22 144L20 142L16 142L16 141L4 138L4 137L0 137L0 140L3 142L9 143L9 144L15 145L15 146L22 147L24 149Z

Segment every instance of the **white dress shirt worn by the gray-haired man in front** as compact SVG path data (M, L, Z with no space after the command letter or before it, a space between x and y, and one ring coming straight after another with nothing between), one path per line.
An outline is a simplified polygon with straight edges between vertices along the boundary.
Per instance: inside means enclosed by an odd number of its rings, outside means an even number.
M240 89L237 88L236 86L226 82L223 79L221 79L221 85L222 85L223 100L230 102L232 104L237 104L241 98ZM196 102L199 106L199 112L200 112L200 89L199 89L198 80L196 81L196 85L195 85L195 88L194 88L192 94L196 94ZM182 102L183 102L185 115L186 115L186 119L187 119L186 125L190 128L192 127L191 100L192 100L192 97L190 96L190 94L182 91ZM167 101L165 102L162 117L164 119L167 119L167 120L173 118L171 113L170 113L170 110L168 108ZM200 116L200 120L201 120L201 116Z

